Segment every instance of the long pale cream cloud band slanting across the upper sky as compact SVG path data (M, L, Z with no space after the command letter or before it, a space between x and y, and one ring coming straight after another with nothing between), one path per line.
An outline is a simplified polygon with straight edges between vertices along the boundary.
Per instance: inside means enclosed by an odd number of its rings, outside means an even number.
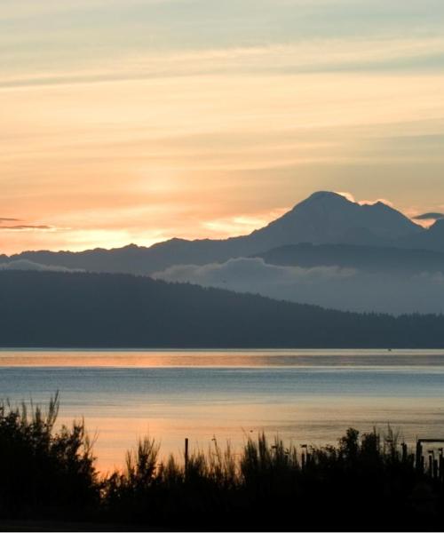
M90 68L29 70L26 76L3 76L0 88L53 84L92 84L124 80L183 76L295 75L390 69L431 70L427 59L441 58L444 38L375 37L368 39L309 39L291 44L242 46L185 52L143 52L124 55L117 61L100 60Z

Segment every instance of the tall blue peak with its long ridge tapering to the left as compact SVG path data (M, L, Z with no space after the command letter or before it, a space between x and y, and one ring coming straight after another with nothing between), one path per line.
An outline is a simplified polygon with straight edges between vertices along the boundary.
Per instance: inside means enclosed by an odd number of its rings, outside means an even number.
M4 261L26 259L52 267L91 272L152 274L178 264L204 265L297 243L349 243L390 246L419 238L426 230L385 205L360 205L342 195L318 192L280 219L250 235L226 240L171 239L150 248L134 244L115 250L26 251Z

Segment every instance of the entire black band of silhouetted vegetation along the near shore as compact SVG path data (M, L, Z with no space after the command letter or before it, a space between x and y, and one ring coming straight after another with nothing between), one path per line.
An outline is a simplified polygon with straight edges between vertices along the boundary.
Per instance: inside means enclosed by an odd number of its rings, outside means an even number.
M83 422L55 430L58 407L0 407L0 529L444 528L442 450L424 465L390 428L350 428L324 448L259 435L240 454L213 442L166 461L147 438L123 471L100 476Z

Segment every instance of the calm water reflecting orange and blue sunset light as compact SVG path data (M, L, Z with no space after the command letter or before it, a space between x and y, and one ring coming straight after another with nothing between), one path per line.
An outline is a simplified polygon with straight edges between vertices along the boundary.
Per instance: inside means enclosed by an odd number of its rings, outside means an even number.
M0 350L0 397L47 402L56 390L60 422L84 416L103 471L147 433L163 455L185 437L236 448L262 430L325 444L390 423L408 442L444 438L444 351Z

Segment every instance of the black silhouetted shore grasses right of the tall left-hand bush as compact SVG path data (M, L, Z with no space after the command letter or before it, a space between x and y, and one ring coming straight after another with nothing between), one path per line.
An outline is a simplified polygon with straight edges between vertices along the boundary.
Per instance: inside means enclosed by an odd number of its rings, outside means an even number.
M187 463L172 456L158 462L157 453L154 440L139 444L131 468L113 474L118 486L108 478L102 505L112 520L210 530L361 530L383 520L385 527L426 529L440 520L442 483L416 471L390 426L361 436L349 428L337 446L321 448L259 434L239 454L215 440ZM139 464L149 468L138 475ZM416 498L424 486L432 497Z

